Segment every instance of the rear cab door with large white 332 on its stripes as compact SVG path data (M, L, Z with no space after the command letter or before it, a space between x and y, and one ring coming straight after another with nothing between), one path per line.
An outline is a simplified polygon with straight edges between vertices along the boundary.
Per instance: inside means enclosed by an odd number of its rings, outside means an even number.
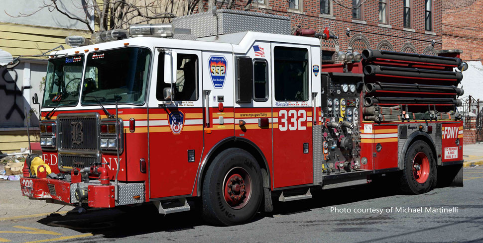
M310 46L271 43L274 188L313 183Z

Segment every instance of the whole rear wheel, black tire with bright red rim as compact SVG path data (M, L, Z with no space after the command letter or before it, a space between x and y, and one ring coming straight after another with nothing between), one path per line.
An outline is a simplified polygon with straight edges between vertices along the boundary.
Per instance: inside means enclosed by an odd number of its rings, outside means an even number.
M431 148L418 140L407 149L400 178L401 190L409 194L429 191L435 180L436 161Z

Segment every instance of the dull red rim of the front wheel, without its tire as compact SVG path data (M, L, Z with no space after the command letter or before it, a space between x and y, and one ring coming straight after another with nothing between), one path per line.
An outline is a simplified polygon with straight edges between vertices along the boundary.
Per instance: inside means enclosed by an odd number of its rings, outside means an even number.
M242 167L230 169L223 181L225 201L233 209L244 207L251 196L251 178Z

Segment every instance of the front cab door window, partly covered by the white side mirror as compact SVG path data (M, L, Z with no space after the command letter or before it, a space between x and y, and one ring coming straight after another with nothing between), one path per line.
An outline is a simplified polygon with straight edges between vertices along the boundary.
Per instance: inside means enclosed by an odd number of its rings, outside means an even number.
M178 53L173 100L198 100L198 56ZM156 99L164 100L163 89L171 84L164 81L164 55L158 56Z

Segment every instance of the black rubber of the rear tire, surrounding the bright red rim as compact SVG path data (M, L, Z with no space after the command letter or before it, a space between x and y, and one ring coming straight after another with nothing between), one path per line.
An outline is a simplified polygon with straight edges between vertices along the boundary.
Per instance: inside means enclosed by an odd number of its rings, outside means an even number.
M424 182L418 182L413 173L413 160L416 155L423 153L429 160L429 173ZM421 140L414 142L406 151L404 157L404 169L399 179L400 189L406 194L421 194L428 192L433 187L436 173L436 160L429 145Z

